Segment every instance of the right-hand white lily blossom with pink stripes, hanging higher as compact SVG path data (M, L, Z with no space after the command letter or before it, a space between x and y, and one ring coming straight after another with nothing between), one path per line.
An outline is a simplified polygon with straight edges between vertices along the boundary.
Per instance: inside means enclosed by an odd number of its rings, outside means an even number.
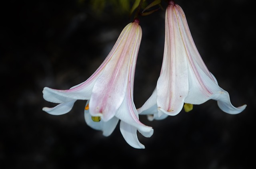
M246 108L246 105L234 107L228 92L218 86L196 49L182 8L170 1L165 15L160 77L156 89L138 112L149 114L149 120L160 120L178 114L184 103L190 106L210 99L217 100L219 108L229 114L238 114Z

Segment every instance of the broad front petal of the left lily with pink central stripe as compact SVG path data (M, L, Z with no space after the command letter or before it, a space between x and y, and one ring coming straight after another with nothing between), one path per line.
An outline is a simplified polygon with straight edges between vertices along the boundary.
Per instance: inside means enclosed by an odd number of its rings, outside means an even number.
M108 55L111 57L108 65L92 89L89 103L92 116L101 116L104 121L115 116L124 100L130 67L136 63L141 38L142 30L138 23L130 23L123 29Z

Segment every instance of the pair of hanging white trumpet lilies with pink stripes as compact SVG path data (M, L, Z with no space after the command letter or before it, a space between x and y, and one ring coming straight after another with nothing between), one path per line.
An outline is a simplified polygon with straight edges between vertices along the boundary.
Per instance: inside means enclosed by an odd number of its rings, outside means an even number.
M142 29L135 19L122 30L109 55L85 82L69 90L44 87L44 99L59 104L43 110L61 115L69 112L76 100L87 100L84 117L91 128L109 136L120 120L126 142L140 149L145 147L138 140L137 130L150 137L153 129L139 121L139 114L148 115L149 120L161 120L178 114L184 103L202 104L209 99L217 100L220 109L229 114L238 114L246 108L246 104L234 107L228 92L218 86L196 49L182 8L170 1L165 16L160 77L150 98L136 109L133 85L141 38Z

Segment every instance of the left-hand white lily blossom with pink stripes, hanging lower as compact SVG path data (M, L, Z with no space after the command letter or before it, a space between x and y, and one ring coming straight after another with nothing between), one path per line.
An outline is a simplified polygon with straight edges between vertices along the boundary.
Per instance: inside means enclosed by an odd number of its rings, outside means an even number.
M136 132L138 130L143 136L150 137L153 129L139 121L133 101L134 73L141 38L139 21L134 20L123 29L109 55L89 79L69 90L45 87L44 99L59 104L43 110L53 115L65 114L76 100L87 100L84 116L90 127L109 136L120 119L120 131L126 142L134 148L145 148L138 141Z

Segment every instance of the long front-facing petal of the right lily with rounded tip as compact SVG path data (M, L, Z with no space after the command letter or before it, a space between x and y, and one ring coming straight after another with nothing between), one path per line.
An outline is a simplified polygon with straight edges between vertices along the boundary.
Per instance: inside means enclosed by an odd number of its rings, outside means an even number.
M160 111L174 116L182 110L188 95L188 61L179 20L172 8L168 6L166 10L164 57L156 86L156 102Z

